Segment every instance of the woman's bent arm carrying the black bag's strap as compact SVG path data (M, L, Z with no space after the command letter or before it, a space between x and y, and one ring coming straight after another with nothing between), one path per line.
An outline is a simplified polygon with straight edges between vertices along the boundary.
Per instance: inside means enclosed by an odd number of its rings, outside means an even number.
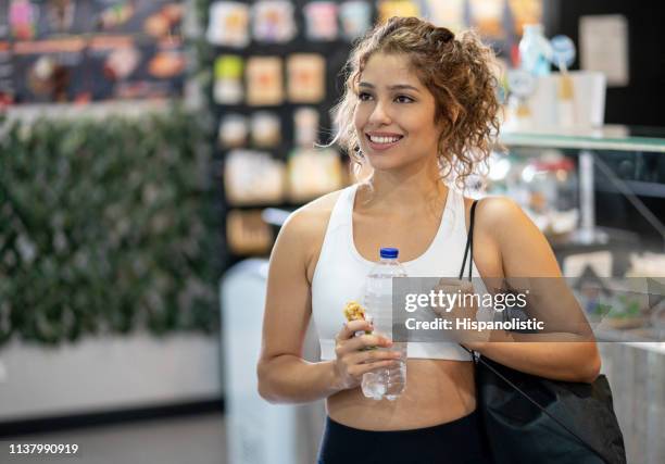
M505 281L510 284L512 279L528 278L532 286L540 287L537 288L540 298L535 305L539 318L582 329L578 334L557 336L574 341L551 341L553 338L548 335L494 331L491 341L473 343L469 348L529 374L569 381L593 381L601 366L598 347L544 236L519 206L504 198L480 201L476 221L474 241L493 242L491 248L499 255ZM529 341L543 337L548 341Z

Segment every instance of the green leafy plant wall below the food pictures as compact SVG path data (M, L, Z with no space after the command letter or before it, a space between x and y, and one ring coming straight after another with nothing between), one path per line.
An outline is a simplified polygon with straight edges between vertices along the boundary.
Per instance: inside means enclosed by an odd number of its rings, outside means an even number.
M209 139L164 113L1 125L0 346L216 330Z

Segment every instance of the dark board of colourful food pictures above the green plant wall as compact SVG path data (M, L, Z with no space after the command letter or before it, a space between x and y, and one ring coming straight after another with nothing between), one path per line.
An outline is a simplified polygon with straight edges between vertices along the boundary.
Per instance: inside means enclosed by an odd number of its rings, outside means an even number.
M0 0L0 102L180 96L183 14L178 0Z

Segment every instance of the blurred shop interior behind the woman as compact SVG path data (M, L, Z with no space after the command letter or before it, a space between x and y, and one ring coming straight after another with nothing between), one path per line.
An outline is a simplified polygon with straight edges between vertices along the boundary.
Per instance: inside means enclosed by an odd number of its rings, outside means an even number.
M314 143L334 134L354 40L393 15L476 28L498 54L502 147L467 195L516 200L567 277L664 294L664 14L0 0L0 462L314 462L323 403L256 392L267 256L291 211L353 181ZM629 462L661 464L665 302L614 303L597 336ZM304 354L318 359L315 327Z

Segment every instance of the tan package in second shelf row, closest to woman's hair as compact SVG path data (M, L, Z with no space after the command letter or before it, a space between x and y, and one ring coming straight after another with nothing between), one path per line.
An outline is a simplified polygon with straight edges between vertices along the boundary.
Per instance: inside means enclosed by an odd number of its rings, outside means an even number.
M316 53L287 59L287 92L293 103L318 103L326 96L326 60Z

